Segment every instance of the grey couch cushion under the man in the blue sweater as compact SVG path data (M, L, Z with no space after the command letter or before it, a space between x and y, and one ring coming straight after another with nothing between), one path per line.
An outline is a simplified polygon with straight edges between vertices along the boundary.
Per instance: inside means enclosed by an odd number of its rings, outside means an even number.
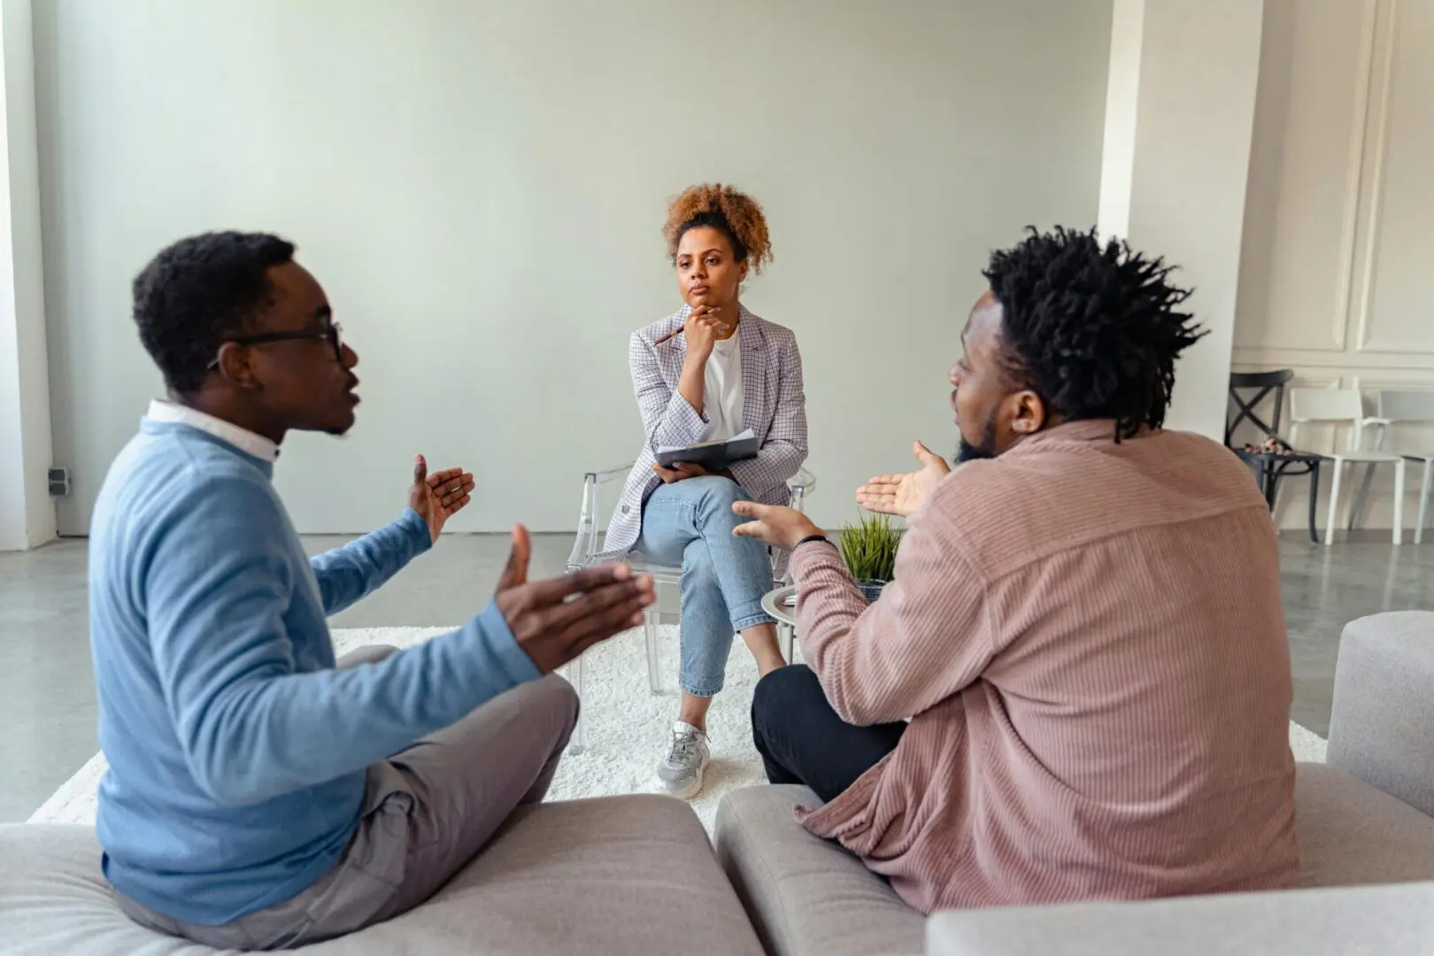
M0 940L34 956L199 956L221 950L151 933L115 906L89 827L0 827ZM582 953L761 947L691 808L654 795L528 807L429 903L298 952Z

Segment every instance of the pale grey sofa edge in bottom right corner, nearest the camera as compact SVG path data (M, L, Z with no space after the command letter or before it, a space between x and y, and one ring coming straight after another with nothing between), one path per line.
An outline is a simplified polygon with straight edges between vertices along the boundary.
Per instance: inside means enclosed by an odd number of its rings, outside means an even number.
M929 956L1424 953L1434 883L936 913Z

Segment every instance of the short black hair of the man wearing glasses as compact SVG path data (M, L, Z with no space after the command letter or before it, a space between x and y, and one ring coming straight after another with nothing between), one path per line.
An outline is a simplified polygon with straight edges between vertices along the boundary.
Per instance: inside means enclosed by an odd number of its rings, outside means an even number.
M179 239L135 277L135 324L165 384L192 394L227 337L272 301L268 269L294 244L267 232L205 232Z

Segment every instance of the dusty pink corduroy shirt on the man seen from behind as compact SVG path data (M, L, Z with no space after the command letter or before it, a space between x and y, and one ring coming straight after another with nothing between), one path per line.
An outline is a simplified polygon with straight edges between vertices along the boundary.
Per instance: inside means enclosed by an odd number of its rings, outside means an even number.
M912 718L799 816L918 910L1293 883L1279 553L1222 446L1064 424L944 479L876 603L835 548L792 568L837 714Z

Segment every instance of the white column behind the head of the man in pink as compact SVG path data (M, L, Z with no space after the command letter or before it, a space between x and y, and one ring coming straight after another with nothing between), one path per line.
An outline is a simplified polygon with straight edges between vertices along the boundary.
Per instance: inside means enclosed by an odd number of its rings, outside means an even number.
M1263 0L1114 0L1103 235L1163 255L1209 330L1176 365L1166 424L1225 434Z

